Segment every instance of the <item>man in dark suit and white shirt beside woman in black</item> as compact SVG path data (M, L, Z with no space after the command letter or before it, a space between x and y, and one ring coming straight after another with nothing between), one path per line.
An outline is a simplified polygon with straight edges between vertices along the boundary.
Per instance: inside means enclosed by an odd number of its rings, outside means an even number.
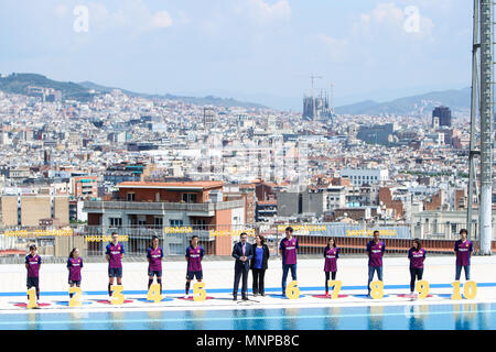
M237 300L240 276L242 276L241 299L248 300L248 272L250 270L250 260L252 258L254 254L251 244L247 242L247 239L248 234L246 232L242 232L240 235L241 241L236 243L233 248L233 256L236 258L233 300Z

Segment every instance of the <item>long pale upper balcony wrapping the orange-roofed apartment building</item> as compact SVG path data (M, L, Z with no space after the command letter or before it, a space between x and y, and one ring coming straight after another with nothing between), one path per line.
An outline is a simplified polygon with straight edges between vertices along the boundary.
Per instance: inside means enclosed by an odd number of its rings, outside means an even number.
M149 215L162 215L165 211L186 211L188 216L207 216L213 217L215 211L242 208L245 201L229 200L219 202L148 202L148 201L101 201L101 200L90 200L85 201L83 206L83 211L85 212L104 212L108 210L123 211L128 213L149 213Z

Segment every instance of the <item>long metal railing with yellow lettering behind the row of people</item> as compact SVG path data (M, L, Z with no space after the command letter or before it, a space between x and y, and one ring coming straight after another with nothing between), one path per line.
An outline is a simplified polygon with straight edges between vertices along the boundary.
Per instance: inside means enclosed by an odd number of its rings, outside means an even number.
M419 230L424 224L358 224L358 223L252 223L252 224L183 224L163 227L152 224L127 227L73 226L67 228L4 228L0 229L0 257L24 256L31 243L35 243L39 253L47 257L67 257L73 248L82 255L104 258L110 234L117 232L125 244L126 256L145 260L147 249L153 235L168 257L184 256L193 235L208 256L229 256L233 244L241 232L247 232L249 242L260 234L266 239L271 255L279 255L280 241L285 237L287 227L292 227L299 241L299 255L322 256L327 240L333 238L342 254L365 254L366 244L375 230L379 231L386 243L387 253L407 253L412 240L419 238L430 253L453 253L454 241L460 238L463 223L438 223L430 230ZM476 227L474 227L476 228ZM470 237L477 250L476 233ZM496 242L493 242L496 251Z

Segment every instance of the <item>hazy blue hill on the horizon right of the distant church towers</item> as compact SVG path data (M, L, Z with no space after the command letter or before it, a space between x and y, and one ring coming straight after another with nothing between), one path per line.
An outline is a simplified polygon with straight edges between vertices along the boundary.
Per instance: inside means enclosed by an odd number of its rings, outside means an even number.
M342 114L425 114L435 107L446 106L452 111L466 111L471 106L471 88L431 91L424 95L399 98L386 102L373 100L335 108Z

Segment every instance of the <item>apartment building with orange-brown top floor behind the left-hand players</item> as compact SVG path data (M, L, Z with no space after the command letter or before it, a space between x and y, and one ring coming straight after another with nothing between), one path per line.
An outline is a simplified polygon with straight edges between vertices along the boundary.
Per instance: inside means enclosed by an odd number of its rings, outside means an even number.
M152 233L164 238L169 254L183 254L197 234L207 254L229 255L236 231L245 223L245 199L226 200L223 182L150 183L117 185L118 199L85 201L88 226L103 231L127 232L130 251L144 251ZM191 228L191 235L169 235L165 228ZM153 230L143 231L143 230ZM213 235L224 231L223 235ZM133 241L136 240L136 241ZM101 243L91 243L101 245Z

